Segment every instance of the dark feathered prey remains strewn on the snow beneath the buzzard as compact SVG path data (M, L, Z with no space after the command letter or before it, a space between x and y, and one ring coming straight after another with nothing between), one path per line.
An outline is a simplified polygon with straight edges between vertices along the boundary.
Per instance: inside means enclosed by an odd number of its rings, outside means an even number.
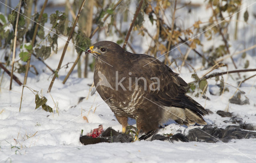
M199 141L207 143L216 143L218 141L228 142L231 139L249 139L256 138L256 125L246 124L242 122L242 118L232 117L229 122L236 125L228 125L226 128L218 128L212 125L205 125L202 129L194 128L188 131L188 135L182 133L177 133L172 136L165 136L156 134L158 130L152 130L144 135L142 135L139 140L161 140L161 141ZM248 131L249 130L249 131ZM151 137L151 138L150 138ZM149 139L150 138L150 139ZM133 141L131 134L118 132L111 127L108 127L102 132L101 137L92 138L89 136L81 136L80 142L84 145L96 144L102 142L119 142L119 143L129 143Z

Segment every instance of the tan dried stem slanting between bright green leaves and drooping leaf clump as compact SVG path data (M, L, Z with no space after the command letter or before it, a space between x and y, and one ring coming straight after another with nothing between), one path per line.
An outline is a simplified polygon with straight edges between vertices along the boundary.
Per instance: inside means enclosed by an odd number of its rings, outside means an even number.
M44 8L46 7L47 2L48 2L48 0L45 0L45 1L44 1L44 5L43 5L42 10L41 10L41 12L40 12L40 15L39 15L39 17L38 17L38 23L40 22L40 20L41 20L41 18L42 18L42 15L43 15L43 13L44 13ZM39 26L38 23L36 23L36 27L35 27L35 30L34 30L32 42L31 42L32 47L34 46L34 42L35 42L35 40L36 40L36 33L37 33L37 30L38 30L38 26ZM29 58L28 58L28 61L27 61L26 72L25 72L25 77L24 77L24 82L23 82L24 85L26 85L26 83L27 83L28 70L29 70L29 67L30 67L30 60L31 60L31 54L32 54L32 52L33 52L33 50L31 50L31 51L29 52Z

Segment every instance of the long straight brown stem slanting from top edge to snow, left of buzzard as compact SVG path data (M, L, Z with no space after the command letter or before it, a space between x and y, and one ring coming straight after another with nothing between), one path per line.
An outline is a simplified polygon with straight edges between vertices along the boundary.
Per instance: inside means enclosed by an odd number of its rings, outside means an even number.
M75 20L75 22L74 22L74 24L73 24L73 27L72 27L72 29L70 30L70 34L69 34L68 40L66 41L66 44L65 44L65 46L64 46L64 49L63 49L63 52L62 52L62 55L61 55L60 62L59 62L59 64L58 64L58 68L57 68L57 70L56 70L56 73L58 73L59 70L60 70L61 64L62 64L62 62L63 62L64 56L65 56L65 53L66 53L66 50L67 50L67 48L68 48L68 43L69 43L70 39L71 39L72 36L73 36L73 32L74 32L74 29L75 29L75 27L76 27L76 23L78 22L78 18L79 18L79 16L80 16L80 13L81 13L83 7L84 7L85 1L86 1L86 0L83 0L82 4L81 4L81 6L80 6L80 9L79 9L79 11L78 11L78 14L77 14L77 16L76 16L76 20ZM57 76L56 76L56 73L54 73L54 76L53 76L52 81L51 81L51 83L50 83L50 86L49 86L49 88L48 88L48 91L49 91L49 92L51 91L52 85L53 85L53 83L54 83L54 80L55 80L56 77L57 77Z

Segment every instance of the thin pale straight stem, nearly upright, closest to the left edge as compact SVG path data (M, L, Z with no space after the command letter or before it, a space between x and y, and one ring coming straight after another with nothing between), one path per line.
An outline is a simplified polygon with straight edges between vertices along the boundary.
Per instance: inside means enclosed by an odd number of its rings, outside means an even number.
M19 16L20 16L21 1L22 0L20 0L19 9L18 9L18 12L17 12L15 32L14 32L14 40L13 40L12 72L11 72L11 80L10 80L10 90L12 89L12 78L13 78L13 70L14 70L14 62L15 62L14 60L15 60L15 52L16 52L16 40L17 40L17 30L18 30L18 22L19 22Z

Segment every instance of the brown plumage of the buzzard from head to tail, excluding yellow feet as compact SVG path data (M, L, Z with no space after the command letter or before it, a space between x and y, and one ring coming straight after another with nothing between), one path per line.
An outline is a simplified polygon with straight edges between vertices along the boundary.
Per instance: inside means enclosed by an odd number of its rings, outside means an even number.
M132 54L110 41L97 42L87 51L96 57L96 90L123 129L128 117L143 132L170 119L181 125L206 124L202 115L207 111L185 95L187 83L156 58Z

